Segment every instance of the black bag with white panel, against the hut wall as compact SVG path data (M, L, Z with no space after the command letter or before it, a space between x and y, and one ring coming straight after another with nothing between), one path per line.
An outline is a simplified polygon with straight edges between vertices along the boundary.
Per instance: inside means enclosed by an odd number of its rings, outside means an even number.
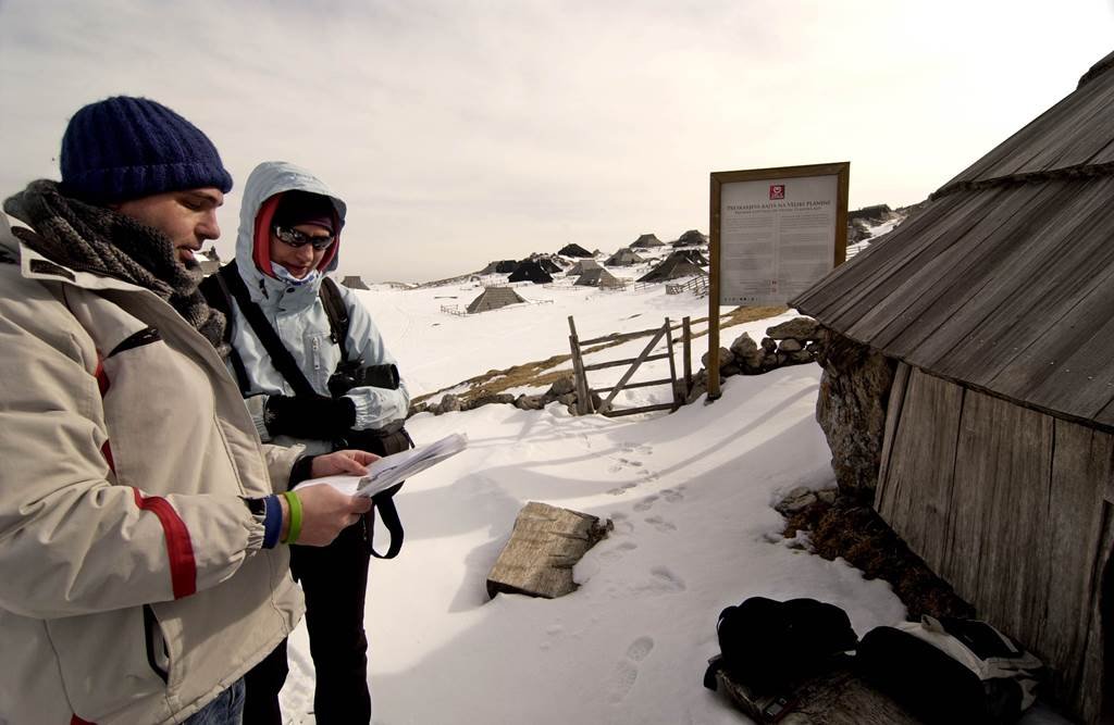
M1012 723L1036 698L1040 660L985 621L935 619L876 627L860 673L927 723Z

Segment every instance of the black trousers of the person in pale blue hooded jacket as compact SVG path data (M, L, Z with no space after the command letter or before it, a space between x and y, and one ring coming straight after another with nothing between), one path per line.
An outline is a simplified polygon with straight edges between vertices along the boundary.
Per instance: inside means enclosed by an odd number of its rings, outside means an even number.
M326 547L290 548L291 572L305 594L305 625L317 680L313 696L317 725L371 722L363 630L369 559L362 522L341 531ZM284 640L244 678L244 725L282 725L278 690L286 674Z

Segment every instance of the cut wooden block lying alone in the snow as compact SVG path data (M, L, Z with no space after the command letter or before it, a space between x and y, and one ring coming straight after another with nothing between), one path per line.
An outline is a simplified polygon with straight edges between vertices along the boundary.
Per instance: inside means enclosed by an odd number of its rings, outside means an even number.
M530 501L515 519L510 540L488 574L488 596L525 594L554 599L575 591L573 567L607 536L610 521Z

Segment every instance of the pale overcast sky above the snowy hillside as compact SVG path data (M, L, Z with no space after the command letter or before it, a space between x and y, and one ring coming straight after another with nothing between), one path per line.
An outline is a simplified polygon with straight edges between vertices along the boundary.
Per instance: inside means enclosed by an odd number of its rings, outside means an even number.
M709 173L849 160L924 199L1069 94L1111 0L0 0L0 194L58 178L81 105L170 106L236 179L309 167L341 272L429 281L709 227Z

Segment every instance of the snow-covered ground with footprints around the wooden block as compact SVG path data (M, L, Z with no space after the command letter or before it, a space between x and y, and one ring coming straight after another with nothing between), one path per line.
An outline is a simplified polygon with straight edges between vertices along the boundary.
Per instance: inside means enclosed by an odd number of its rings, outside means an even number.
M569 315L588 339L707 314L706 298L667 295L664 285L624 293L559 283L518 291L551 302L455 316L440 305L463 307L480 290L360 294L416 393L567 353ZM789 316L726 329L723 344L744 330L760 340ZM597 359L634 356L646 342ZM697 339L694 369L706 349L706 337ZM592 384L620 374L600 373ZM372 564L367 624L374 722L743 723L701 684L717 653L723 607L758 595L815 597L843 607L860 636L902 619L905 607L887 584L780 536L783 521L771 506L781 494L834 486L814 421L819 379L817 365L735 376L715 403L672 414L571 417L555 403L543 411L486 405L412 418L407 427L419 442L463 431L470 443L407 482L397 498L405 546L399 558ZM626 404L664 400L667 392L639 391ZM610 519L615 529L575 568L576 592L488 600L488 570L528 501ZM312 689L302 626L291 638L283 692L289 723L313 723Z

